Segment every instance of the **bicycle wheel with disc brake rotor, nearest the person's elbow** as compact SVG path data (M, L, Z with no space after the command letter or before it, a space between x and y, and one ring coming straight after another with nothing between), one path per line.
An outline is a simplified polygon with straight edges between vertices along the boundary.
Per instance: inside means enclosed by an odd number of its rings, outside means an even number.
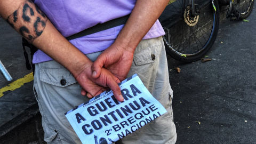
M159 17L166 35L166 53L182 62L194 62L209 51L219 29L219 5L215 0L195 0L197 14L191 14L191 0L170 0Z

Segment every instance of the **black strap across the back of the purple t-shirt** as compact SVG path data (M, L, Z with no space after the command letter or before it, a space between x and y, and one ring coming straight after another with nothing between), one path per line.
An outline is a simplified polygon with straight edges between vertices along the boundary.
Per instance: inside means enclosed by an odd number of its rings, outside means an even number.
M121 17L121 18L117 18L114 20L104 22L104 23L99 23L93 27L90 27L83 31L80 31L79 33L76 33L74 35L66 37L66 39L68 39L68 41L70 41L71 39L79 38L79 37L86 36L86 35L91 35L91 34L97 33L102 30L106 30L106 29L124 25L129 17L130 17L130 14L125 15L124 17Z

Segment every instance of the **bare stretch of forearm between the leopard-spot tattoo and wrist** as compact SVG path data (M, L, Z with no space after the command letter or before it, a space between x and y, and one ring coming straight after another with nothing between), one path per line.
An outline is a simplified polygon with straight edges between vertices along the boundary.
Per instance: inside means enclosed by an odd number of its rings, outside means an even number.
M50 21L46 22L44 33L33 44L49 57L66 67L76 77L91 61L73 44L67 41Z

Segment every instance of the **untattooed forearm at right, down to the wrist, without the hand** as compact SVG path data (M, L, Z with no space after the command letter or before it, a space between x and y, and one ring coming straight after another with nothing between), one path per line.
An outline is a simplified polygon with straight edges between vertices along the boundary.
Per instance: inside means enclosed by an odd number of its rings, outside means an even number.
M138 0L116 43L135 50L159 18L169 0Z

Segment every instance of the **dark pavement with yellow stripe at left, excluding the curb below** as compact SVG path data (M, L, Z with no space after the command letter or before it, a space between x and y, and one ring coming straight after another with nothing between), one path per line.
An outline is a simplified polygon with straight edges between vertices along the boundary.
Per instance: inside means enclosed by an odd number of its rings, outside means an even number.
M0 18L0 60L13 78L8 82L0 75L0 126L35 103L33 82L21 81L12 87L8 86L32 72L26 69L21 38L7 22ZM27 52L30 54L29 49ZM6 91L9 89L4 89L5 86L13 91ZM21 87L18 88L19 86Z

